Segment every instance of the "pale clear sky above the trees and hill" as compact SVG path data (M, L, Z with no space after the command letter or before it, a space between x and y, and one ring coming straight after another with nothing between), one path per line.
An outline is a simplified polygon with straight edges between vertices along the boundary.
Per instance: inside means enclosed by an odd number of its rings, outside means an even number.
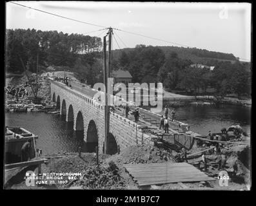
M233 53L251 59L251 5L249 3L167 3L94 1L12 1L44 12L84 21L79 23L6 3L6 28L57 30L103 37L113 30L113 49L152 46L196 47ZM101 30L101 31L99 31ZM95 31L95 32L94 32ZM91 33L87 33L91 32ZM159 41L161 39L163 41ZM166 42L167 41L167 42ZM118 45L117 45L118 44Z

